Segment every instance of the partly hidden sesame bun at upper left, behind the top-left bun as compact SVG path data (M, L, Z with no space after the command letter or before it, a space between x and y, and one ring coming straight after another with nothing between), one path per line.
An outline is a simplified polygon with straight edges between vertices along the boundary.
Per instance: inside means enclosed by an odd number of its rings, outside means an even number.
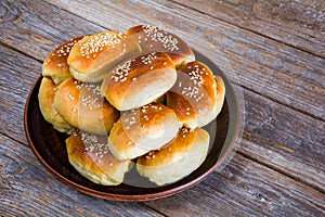
M70 78L72 74L67 64L67 58L72 48L81 38L82 36L73 38L55 48L55 50L44 60L42 75L44 77L51 77L55 85Z

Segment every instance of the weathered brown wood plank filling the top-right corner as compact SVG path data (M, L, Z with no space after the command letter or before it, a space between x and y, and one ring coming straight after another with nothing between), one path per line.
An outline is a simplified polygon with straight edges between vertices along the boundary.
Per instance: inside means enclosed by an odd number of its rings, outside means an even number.
M322 0L176 2L325 58L325 2Z

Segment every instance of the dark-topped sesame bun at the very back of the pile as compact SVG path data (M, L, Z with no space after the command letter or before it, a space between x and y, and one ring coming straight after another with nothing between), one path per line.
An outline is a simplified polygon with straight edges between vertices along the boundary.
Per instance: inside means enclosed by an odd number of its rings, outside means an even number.
M185 41L156 26L133 26L128 29L127 35L140 43L143 54L166 52L170 55L177 67L195 60L192 49Z

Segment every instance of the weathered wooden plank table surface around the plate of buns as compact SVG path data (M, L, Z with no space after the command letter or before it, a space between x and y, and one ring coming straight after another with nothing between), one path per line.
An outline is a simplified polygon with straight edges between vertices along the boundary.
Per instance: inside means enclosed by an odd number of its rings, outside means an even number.
M32 154L24 106L62 42L152 24L209 56L242 91L231 163L180 194L116 202L55 179ZM325 216L322 0L1 0L0 216Z

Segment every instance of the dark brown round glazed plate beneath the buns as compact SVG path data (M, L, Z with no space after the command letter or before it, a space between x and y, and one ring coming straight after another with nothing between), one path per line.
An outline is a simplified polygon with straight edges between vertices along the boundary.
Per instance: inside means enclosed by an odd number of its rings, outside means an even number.
M158 187L136 175L134 169L126 174L123 183L105 187L83 178L69 164L65 149L67 136L56 131L44 120L39 110L39 77L31 88L24 114L25 133L38 161L57 179L72 188L96 197L114 201L148 201L180 193L204 180L219 169L230 157L239 132L239 105L236 94L225 74L209 59L195 51L196 60L207 64L211 71L223 78L225 101L221 113L208 126L204 127L211 137L209 153L205 162L187 177L171 184Z

